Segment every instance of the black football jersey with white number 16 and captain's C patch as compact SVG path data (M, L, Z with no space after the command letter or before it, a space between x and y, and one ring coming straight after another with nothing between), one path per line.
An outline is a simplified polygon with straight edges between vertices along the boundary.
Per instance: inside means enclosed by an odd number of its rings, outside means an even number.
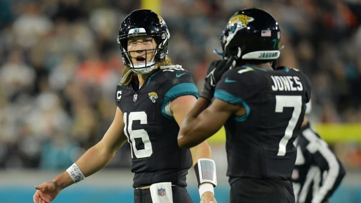
M199 95L190 72L170 67L154 72L140 88L137 84L117 86L116 104L123 112L131 146L133 187L169 181L187 185L192 156L177 144L179 126L168 104L179 96Z

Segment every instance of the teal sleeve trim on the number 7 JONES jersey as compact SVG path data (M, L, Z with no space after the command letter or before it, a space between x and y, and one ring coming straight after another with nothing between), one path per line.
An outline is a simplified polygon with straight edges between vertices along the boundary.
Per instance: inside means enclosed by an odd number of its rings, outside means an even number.
M231 104L242 104L246 108L246 114L243 116L236 116L235 117L236 121L238 121L238 122L245 121L247 119L248 115L250 114L251 109L243 99L236 97L225 90L216 90L214 96L217 99L226 101Z

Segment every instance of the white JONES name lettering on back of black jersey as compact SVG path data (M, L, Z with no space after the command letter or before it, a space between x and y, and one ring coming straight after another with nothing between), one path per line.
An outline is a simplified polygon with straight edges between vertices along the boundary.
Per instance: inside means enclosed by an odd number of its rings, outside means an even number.
M297 76L271 76L272 91L302 91L302 83Z

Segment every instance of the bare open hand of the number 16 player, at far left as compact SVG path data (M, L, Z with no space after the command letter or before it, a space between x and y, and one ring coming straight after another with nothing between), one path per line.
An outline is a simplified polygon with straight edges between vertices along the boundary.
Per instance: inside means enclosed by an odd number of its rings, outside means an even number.
M43 182L36 185L37 191L33 196L34 203L49 203L59 194L61 188L54 181Z

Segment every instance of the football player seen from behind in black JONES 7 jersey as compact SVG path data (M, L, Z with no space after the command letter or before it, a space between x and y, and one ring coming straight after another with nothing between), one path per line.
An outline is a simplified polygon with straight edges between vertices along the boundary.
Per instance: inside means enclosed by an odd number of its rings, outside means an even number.
M269 13L236 12L221 36L223 60L211 63L179 130L179 146L193 147L224 125L230 202L295 202L293 141L311 85L296 69L275 68L279 43L280 28Z

